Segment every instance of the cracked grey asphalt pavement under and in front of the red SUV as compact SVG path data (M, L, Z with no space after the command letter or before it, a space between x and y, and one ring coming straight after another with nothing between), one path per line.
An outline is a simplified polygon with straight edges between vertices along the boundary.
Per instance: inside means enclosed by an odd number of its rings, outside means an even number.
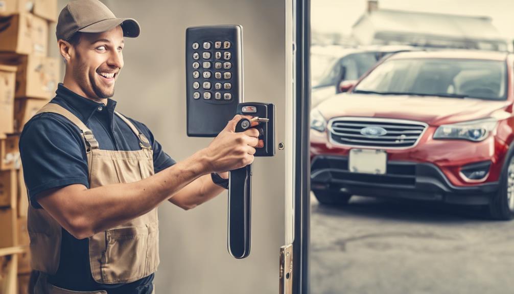
M311 194L313 294L514 293L514 221L478 207Z

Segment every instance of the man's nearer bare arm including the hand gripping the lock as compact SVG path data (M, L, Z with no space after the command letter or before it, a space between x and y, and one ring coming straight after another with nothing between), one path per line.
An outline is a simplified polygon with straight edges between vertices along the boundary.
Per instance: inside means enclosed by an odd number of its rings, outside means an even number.
M36 200L76 238L113 228L149 212L195 179L250 164L259 132L251 128L235 133L235 125L241 118L237 115L229 121L207 148L151 177L93 189L69 185L42 192L36 195ZM207 197L212 198L211 193Z

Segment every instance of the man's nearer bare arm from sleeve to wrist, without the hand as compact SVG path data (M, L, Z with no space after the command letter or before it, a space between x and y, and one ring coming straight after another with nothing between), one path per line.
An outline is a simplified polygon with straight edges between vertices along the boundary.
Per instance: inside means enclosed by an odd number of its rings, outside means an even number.
M196 153L140 181L93 189L69 185L36 199L64 229L82 239L148 213L207 172L207 158Z

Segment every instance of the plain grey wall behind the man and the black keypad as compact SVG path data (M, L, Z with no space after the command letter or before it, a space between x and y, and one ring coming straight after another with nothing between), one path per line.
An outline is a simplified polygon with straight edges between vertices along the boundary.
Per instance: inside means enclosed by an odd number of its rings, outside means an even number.
M59 9L66 3L60 1ZM139 38L125 39L125 65L113 97L117 109L148 125L174 159L185 159L211 141L186 136L185 31L193 25L243 25L245 101L275 103L277 144L292 145L285 141L285 97L290 95L286 82L291 70L286 71L284 1L104 3L118 17L134 17L141 25ZM50 40L56 43L54 35ZM51 50L57 56L57 46ZM157 293L278 292L286 152L287 148L277 150L275 157L257 158L254 163L252 249L245 260L235 260L227 252L226 193L191 211L169 203L159 208Z

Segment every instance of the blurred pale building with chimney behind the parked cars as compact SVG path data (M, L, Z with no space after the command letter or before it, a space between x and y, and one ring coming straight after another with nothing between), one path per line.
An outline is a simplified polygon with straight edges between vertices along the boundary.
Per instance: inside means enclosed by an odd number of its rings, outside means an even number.
M360 45L508 49L489 16L379 9L376 0L368 1L368 10L353 25L352 36Z

